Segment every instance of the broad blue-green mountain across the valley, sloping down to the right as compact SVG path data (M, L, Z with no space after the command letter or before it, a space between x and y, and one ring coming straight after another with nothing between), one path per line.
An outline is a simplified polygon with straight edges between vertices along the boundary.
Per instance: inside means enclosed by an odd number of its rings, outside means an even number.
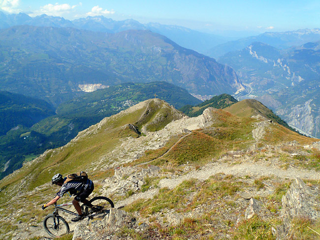
M149 30L103 33L18 26L0 30L2 90L59 104L79 85L166 81L198 94L233 93L235 71Z

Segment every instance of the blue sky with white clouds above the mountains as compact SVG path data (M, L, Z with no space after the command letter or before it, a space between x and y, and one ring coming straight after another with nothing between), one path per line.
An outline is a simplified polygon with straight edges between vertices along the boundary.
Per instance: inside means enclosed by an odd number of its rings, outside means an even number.
M6 13L65 19L103 15L203 31L286 31L320 28L319 0L0 0Z

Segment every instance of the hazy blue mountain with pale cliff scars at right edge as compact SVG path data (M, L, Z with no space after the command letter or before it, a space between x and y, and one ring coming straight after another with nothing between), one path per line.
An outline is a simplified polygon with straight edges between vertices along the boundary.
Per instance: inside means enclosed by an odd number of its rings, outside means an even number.
M265 105L300 131L320 137L319 42L279 50L254 42L219 59L237 70Z

